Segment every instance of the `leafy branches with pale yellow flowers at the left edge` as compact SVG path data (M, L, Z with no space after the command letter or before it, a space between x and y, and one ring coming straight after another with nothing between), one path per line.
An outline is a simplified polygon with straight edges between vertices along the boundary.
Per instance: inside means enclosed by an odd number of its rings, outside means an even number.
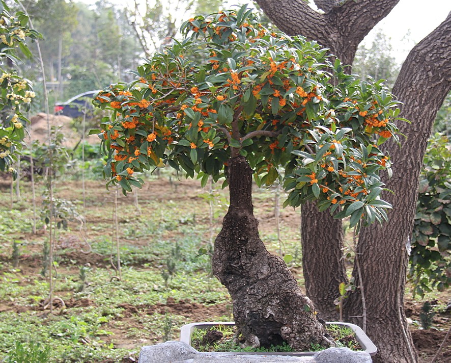
M12 164L23 146L24 125L29 122L23 115L30 109L35 97L30 81L17 74L11 65L20 62L17 49L26 57L32 54L26 39L37 39L40 34L28 27L29 17L23 12L10 14L4 0L0 1L0 170L17 176Z

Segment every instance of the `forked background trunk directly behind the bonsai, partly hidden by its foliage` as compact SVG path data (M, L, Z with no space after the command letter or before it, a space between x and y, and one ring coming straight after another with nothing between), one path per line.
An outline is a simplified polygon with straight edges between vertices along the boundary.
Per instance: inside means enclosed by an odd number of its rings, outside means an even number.
M361 0L339 5L336 0L315 1L321 14L303 0L256 0L268 17L287 34L300 34L329 47L344 64L352 64L363 38L399 0ZM364 21L361 21L365 19ZM348 68L350 71L350 68ZM302 206L302 268L307 296L325 320L336 320L334 300L347 282L343 260L343 226L316 204Z

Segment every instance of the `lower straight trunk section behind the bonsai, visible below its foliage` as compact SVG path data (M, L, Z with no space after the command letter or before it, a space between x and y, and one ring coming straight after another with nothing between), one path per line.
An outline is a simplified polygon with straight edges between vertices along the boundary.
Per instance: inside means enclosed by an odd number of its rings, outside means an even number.
M301 234L307 296L315 302L321 319L338 321L340 314L333 301L340 296L340 283L348 281L341 258L342 222L328 212L318 212L315 203L306 203L302 205Z

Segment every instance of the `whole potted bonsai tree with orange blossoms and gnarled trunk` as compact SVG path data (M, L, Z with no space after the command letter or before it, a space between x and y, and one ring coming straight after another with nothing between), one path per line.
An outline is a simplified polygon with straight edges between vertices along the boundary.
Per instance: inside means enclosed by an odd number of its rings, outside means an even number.
M189 177L226 178L230 208L215 240L215 276L229 290L246 344L328 345L313 303L270 254L253 216L258 186L284 183L285 205L318 200L351 225L382 222L378 145L397 138L393 101L379 82L343 72L328 50L259 23L252 10L186 21L182 41L147 60L130 84L100 92L114 111L99 134L109 184L141 187L135 173L169 165ZM99 131L97 131L99 132Z

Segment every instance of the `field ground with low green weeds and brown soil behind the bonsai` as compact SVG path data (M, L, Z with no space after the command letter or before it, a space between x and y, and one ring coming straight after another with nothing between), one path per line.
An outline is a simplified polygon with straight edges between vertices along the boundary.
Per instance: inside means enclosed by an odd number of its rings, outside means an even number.
M61 300L55 300L52 314L44 309L49 287L42 274L48 240L40 219L43 183L37 187L37 234L32 232L30 183L21 182L20 200L11 196L8 182L0 185L0 359L22 354L30 362L137 361L140 347L177 340L183 324L233 320L230 297L211 276L209 256L196 257L219 232L226 193L216 190L211 198L198 181L180 181L167 172L148 179L137 203L133 194L119 193L122 280L115 278L111 263L117 260L115 191L106 191L102 180L88 180L83 206L81 180L57 182L55 195L72 201L87 223L85 229L71 221L67 230L57 232L54 285ZM299 211L280 210L280 242L274 194L255 191L261 237L271 251L294 256L292 271L302 286ZM428 298L436 299L439 309L447 297ZM407 304L417 320L421 302ZM445 315L435 319L442 330L450 321ZM444 333L434 332L439 334L432 340L438 348ZM433 354L430 350L425 356Z

